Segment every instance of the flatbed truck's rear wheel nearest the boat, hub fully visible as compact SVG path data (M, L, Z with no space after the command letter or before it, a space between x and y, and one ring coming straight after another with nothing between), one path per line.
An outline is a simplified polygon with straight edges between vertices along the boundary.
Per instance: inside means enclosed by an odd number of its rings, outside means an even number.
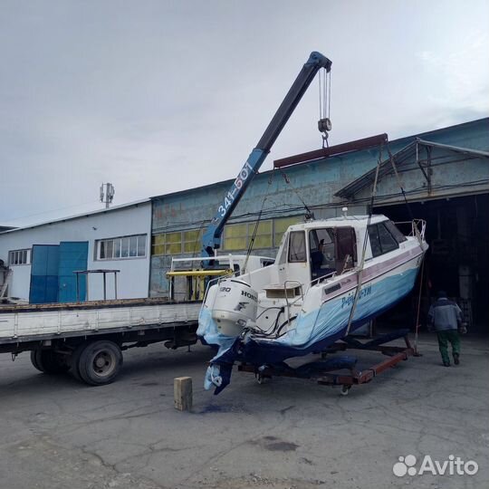
M117 343L98 340L89 343L80 354L78 372L91 386L110 384L122 366L122 352ZM76 368L76 366L75 366Z

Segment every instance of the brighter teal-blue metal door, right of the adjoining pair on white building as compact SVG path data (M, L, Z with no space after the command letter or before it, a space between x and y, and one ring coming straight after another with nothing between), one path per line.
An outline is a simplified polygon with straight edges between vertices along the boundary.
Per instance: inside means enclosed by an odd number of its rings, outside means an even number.
M58 302L76 301L76 274L86 270L88 263L88 241L62 241L58 267ZM80 275L80 300L86 301L86 275Z

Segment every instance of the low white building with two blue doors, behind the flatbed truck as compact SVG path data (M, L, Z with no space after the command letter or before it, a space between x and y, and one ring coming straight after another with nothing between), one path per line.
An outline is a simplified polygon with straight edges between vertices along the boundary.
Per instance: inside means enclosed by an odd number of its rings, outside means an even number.
M103 273L91 273L87 286L86 275L77 285L73 272L119 270L118 298L148 297L150 233L149 199L0 233L5 292L45 303L72 302L77 295L84 301L88 291L88 300L96 301L104 298ZM105 296L113 299L109 275Z

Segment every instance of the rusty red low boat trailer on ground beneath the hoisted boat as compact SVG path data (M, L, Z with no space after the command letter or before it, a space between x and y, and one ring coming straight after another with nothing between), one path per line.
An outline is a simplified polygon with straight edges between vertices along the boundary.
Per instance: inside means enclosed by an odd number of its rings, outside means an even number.
M341 394L346 396L352 386L366 384L374 379L384 370L390 369L401 360L408 360L409 356L420 356L408 339L409 330L399 330L386 334L381 334L372 340L360 341L352 336L347 336L336 341L330 347L321 351L321 360L306 363L297 368L292 368L286 363L262 365L256 367L249 363L241 363L238 370L242 372L254 373L259 383L264 379L272 377L290 377L295 379L311 379L323 386L341 386ZM403 338L406 346L389 346L393 340ZM367 350L379 351L388 359L367 368L357 369L358 359L349 355L335 356L328 358L329 355L346 350ZM348 369L349 373L341 373L340 370Z

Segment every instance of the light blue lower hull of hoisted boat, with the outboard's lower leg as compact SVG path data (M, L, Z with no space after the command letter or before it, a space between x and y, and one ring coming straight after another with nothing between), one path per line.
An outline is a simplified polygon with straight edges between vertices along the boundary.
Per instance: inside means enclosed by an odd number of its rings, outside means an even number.
M238 338L222 337L216 332L216 323L209 310L203 309L197 334L204 336L207 343L219 345L207 370L206 388L216 386L216 394L222 390L229 383L235 361L244 361L257 368L264 364L279 364L292 357L323 350L357 330L411 292L423 255L424 250L416 247L386 262L366 266L357 299L358 273L342 275L336 282L317 284L307 292L302 312L280 338L263 337L253 331ZM327 291L331 291L334 284L340 284L340 287L336 285L337 290L328 297ZM308 301L320 304L320 307L308 310Z

